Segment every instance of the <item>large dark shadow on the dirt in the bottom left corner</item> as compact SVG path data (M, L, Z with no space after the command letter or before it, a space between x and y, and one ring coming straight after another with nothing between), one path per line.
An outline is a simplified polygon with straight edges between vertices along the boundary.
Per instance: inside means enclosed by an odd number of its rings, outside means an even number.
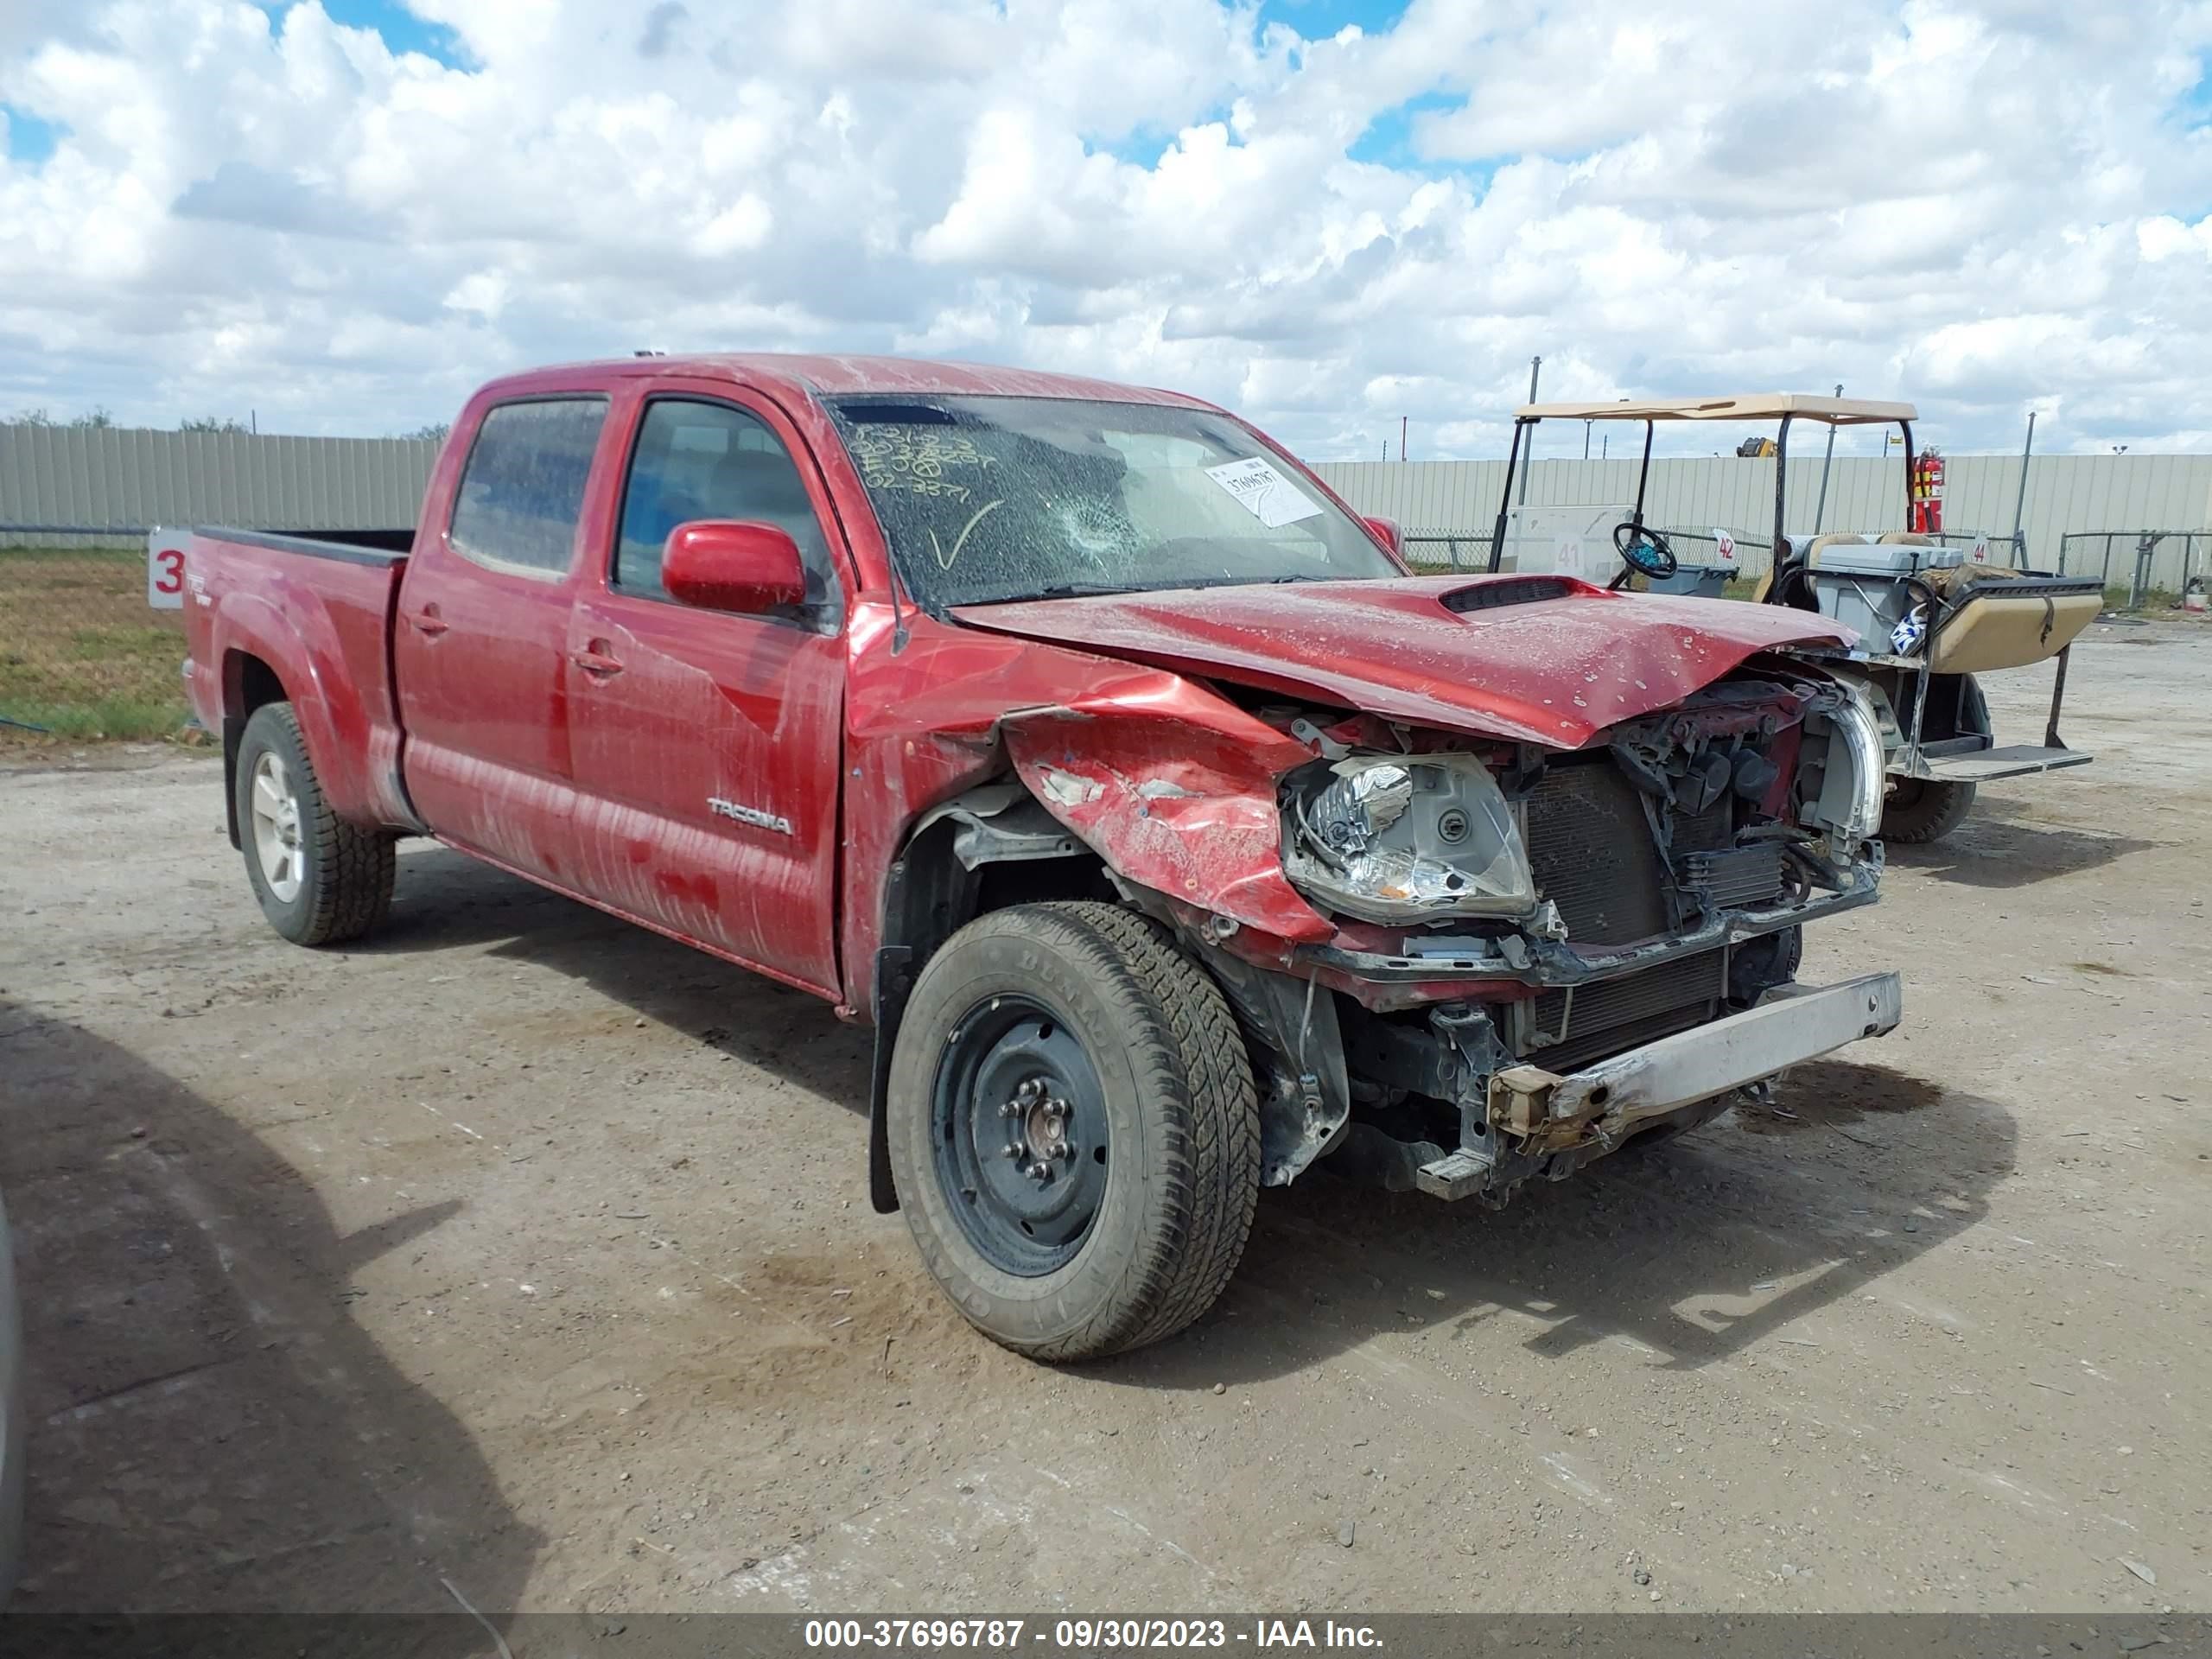
M51 1615L453 1615L442 1579L511 1608L538 1535L460 1420L347 1316L356 1270L458 1206L338 1234L190 1088L11 1002L0 1082L31 1420L9 1639L73 1650ZM467 1619L409 1641L487 1648Z

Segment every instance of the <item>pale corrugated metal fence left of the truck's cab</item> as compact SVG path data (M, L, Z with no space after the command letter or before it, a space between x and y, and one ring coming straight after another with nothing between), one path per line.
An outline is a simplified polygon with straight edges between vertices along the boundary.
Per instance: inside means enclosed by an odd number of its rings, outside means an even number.
M429 438L0 425L0 546L126 542L155 524L414 526L436 458Z

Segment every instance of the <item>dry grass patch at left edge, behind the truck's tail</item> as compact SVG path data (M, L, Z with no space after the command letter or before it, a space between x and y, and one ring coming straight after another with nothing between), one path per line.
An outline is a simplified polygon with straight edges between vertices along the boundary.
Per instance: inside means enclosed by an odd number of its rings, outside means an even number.
M144 553L0 549L0 743L173 737L181 668L184 617L148 608Z

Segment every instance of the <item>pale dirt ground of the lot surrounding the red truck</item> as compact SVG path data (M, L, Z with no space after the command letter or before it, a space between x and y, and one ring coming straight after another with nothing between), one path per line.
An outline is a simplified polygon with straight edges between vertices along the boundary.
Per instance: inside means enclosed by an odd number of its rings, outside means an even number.
M1073 1371L869 1212L827 1009L434 845L301 951L212 759L0 772L18 1606L2212 1606L2212 630L2068 701L1809 938L1900 1033L1504 1214L1270 1192Z

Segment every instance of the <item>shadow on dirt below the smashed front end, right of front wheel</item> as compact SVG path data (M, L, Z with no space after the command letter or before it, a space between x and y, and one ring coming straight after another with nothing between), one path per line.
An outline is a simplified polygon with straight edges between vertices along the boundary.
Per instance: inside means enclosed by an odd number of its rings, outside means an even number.
M1975 1225L2015 1144L1997 1102L1823 1062L1790 1073L1774 1110L1630 1144L1502 1212L1301 1181L1261 1197L1214 1314L1110 1380L1203 1389L1385 1334L1425 1334L1440 1363L1480 1363L1498 1340L1546 1358L1621 1340L1650 1365L1699 1369ZM1801 1360L1820 1345L1781 1340Z

